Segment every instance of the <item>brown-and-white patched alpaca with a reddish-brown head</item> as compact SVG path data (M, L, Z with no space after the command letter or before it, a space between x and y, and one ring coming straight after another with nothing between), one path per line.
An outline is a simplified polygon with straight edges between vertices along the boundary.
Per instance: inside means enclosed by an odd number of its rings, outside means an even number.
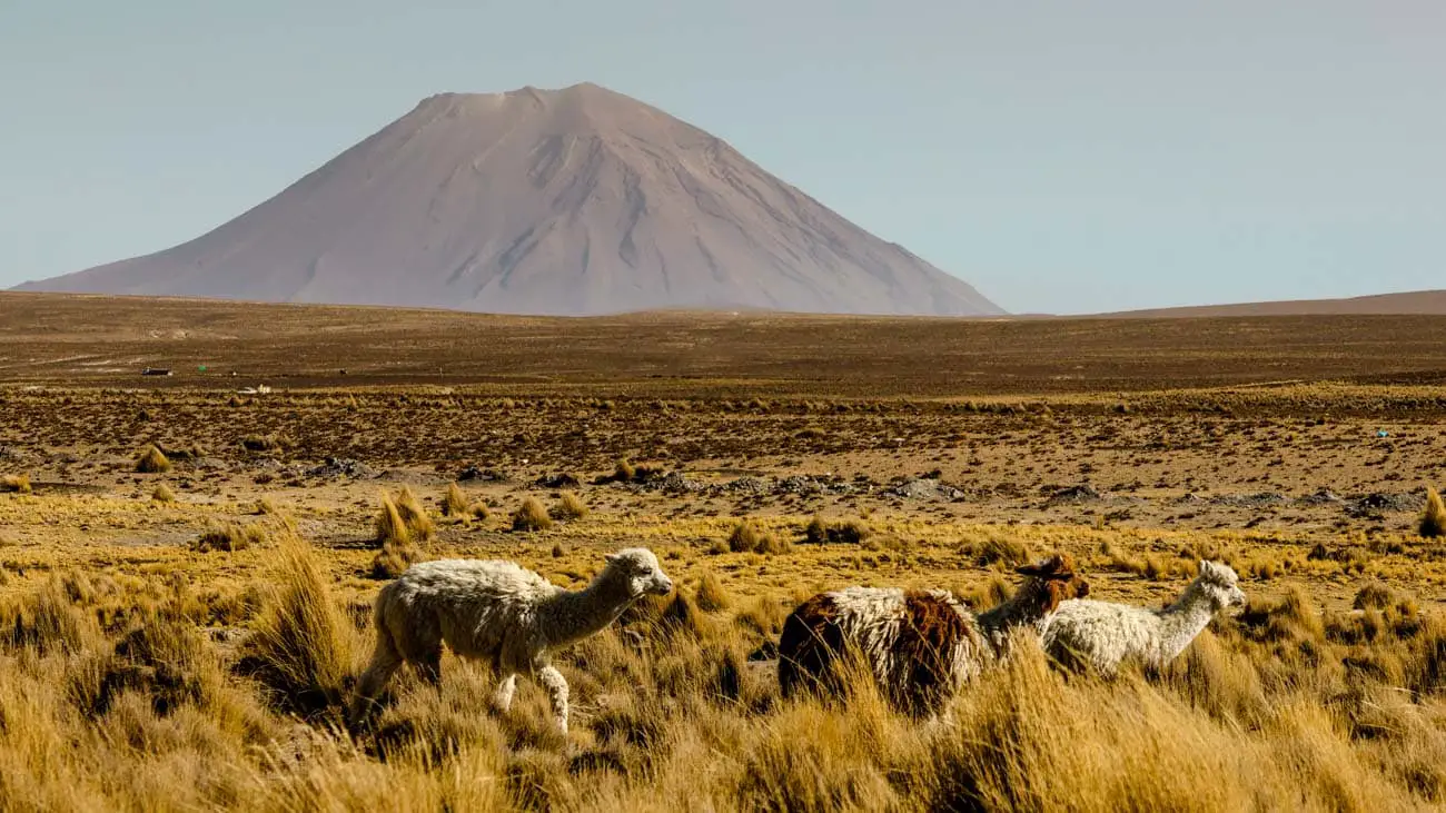
M857 651L888 702L914 718L937 716L964 683L1008 655L1015 629L1037 632L1060 602L1089 595L1066 556L1015 569L1012 599L975 615L946 590L847 587L818 593L784 622L778 681L842 691L839 667Z

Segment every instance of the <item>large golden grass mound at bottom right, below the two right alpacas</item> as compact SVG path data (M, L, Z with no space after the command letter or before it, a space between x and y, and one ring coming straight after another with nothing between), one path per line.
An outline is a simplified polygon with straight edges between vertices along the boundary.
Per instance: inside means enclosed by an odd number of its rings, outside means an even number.
M1267 732L1241 738L1138 678L1066 683L1037 647L960 700L959 725L908 780L924 809L1319 810L1400 799L1342 752L1323 710L1283 709Z

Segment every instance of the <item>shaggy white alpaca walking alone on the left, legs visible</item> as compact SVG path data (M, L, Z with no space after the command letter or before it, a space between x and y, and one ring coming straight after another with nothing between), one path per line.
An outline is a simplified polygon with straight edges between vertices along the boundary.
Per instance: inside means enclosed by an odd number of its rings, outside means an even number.
M403 661L441 680L442 641L463 658L484 660L500 683L493 702L508 710L519 671L547 687L552 716L567 733L567 680L551 665L557 650L600 632L646 593L667 595L672 580L646 548L607 554L607 566L581 590L564 590L500 560L450 558L414 564L376 597L376 652L351 705L366 718Z

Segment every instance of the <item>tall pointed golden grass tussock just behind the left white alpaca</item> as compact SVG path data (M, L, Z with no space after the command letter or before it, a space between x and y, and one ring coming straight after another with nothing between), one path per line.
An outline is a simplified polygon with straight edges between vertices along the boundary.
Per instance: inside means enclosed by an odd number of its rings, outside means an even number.
M243 644L243 671L269 687L279 707L314 716L340 710L356 651L356 632L315 551L282 535L262 615Z

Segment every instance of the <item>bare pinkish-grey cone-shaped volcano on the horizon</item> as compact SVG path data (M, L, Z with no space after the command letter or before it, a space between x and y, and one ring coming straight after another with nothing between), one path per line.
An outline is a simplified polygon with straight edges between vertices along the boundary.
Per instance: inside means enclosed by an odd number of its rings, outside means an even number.
M22 291L584 315L982 315L963 281L593 84L440 94L188 243Z

